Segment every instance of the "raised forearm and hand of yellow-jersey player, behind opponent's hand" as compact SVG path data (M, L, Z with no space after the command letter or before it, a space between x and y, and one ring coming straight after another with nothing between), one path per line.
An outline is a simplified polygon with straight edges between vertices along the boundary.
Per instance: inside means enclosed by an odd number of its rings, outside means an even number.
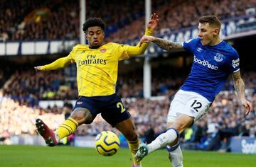
M153 35L154 30L156 29L156 26L158 25L158 23L159 23L159 16L156 15L156 13L154 13L153 15L151 15L150 21L147 24L145 35ZM148 45L149 45L148 43L143 43L143 44L138 43L138 45L136 46L129 46L127 48L127 52L129 56L143 54Z

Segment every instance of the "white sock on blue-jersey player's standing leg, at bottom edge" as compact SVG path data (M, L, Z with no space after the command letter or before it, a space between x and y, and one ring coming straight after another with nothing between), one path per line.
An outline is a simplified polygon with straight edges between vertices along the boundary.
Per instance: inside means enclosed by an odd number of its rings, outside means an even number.
M174 151L169 151L169 159L173 167L183 167L181 146L178 145Z

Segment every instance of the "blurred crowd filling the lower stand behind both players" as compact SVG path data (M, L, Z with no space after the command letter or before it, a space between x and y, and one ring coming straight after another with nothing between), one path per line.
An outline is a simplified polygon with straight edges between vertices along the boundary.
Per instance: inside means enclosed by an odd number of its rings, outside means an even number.
M4 67L4 66L3 66ZM18 69L11 73L2 70L1 78L6 79L0 93L0 138L4 139L15 134L36 134L33 123L41 117L52 127L57 128L60 122L68 117L72 105L67 109L48 106L38 107L38 100L75 100L78 97L75 81L70 81L64 71L36 72ZM143 77L136 73L120 74L117 82L117 94L124 99L124 106L132 114L137 132L144 142L151 142L166 129L166 115L171 99L186 78L186 68L171 67L152 70L152 95L157 98L146 100L143 97ZM161 75L159 75L161 74ZM65 76L65 77L64 77ZM223 149L228 151L229 139L232 136L255 137L256 125L256 72L242 73L247 88L247 99L254 104L253 112L245 117L245 111L239 105L234 93L233 80L230 79L210 108L209 113L186 130L181 141L186 149ZM69 105L69 106L70 106ZM75 132L76 136L95 136L102 130L113 129L98 115L91 125L81 125ZM209 141L210 140L210 141Z

